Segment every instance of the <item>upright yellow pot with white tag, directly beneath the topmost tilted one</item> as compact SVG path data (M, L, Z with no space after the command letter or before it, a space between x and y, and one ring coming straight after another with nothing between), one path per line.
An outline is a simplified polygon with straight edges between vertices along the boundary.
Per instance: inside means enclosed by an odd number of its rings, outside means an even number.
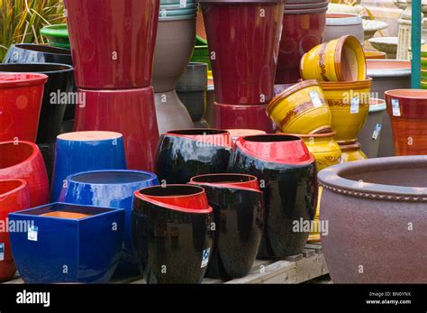
M368 118L372 78L352 82L321 82L332 113L337 142L354 142Z

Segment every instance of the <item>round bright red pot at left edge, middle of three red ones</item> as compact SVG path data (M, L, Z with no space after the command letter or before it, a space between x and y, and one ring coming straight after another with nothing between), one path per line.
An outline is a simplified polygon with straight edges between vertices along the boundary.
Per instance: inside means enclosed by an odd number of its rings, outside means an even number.
M0 180L26 180L31 207L49 200L49 180L39 147L29 142L0 143Z

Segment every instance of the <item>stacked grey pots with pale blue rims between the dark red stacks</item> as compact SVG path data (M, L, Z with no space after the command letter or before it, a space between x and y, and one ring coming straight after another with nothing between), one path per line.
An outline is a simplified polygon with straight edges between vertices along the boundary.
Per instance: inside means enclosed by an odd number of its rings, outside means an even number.
M194 2L162 0L154 56L153 87L159 133L193 128L191 116L177 97L175 88L186 71L195 45Z

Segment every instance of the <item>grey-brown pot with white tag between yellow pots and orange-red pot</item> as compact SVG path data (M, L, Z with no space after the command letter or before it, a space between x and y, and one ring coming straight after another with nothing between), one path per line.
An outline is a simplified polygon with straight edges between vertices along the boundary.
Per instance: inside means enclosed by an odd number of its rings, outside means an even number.
M377 158L378 156L385 112L385 100L370 99L368 119L358 136L362 151L365 152L369 159Z

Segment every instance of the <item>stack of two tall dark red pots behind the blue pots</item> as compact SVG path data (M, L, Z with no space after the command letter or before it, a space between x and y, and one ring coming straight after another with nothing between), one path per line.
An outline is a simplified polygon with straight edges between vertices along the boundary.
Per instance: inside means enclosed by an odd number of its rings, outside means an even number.
M159 0L67 0L65 6L82 99L76 130L123 133L128 167L152 169L159 139L150 86Z

